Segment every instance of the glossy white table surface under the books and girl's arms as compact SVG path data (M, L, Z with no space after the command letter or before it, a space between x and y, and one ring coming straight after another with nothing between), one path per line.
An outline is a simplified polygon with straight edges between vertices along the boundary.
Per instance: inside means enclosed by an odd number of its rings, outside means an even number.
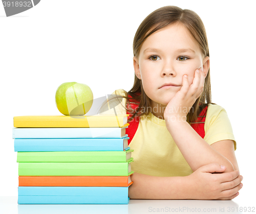
M239 198L240 197L240 198ZM17 204L17 196L0 196L1 214L66 213L254 213L255 198L243 200L130 200L129 204ZM240 209L247 207L247 211Z

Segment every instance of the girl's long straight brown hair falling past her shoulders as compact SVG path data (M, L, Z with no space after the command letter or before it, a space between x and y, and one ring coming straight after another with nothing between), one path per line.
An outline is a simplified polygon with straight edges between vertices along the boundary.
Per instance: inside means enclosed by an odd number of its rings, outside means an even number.
M204 57L209 57L209 47L208 41L206 37L206 31L204 28L204 24L201 18L191 10L182 10L176 6L165 6L161 7L151 14L149 14L140 24L133 41L133 53L134 56L138 58L139 52L142 46L143 41L153 34L154 32L164 28L167 25L172 23L179 22L182 23L187 30L191 33L191 35L196 39L199 44L200 50ZM132 97L129 98L128 94ZM142 116L143 114L150 113L147 109L150 107L150 98L144 92L142 81L137 78L135 75L134 77L134 84L130 91L125 92L126 96L122 96L126 98L126 109L127 111L133 113L133 115L129 118L129 121L132 121L135 116ZM130 102L130 99L133 102ZM205 102L206 100L206 102ZM138 108L131 109L130 103L139 103ZM199 105L200 104L200 105ZM208 104L215 104L211 103L211 90L210 90L210 69L204 81L204 88L201 96L196 100L194 103L193 111L188 112L187 114L187 122L190 124L191 122L200 122L198 121L198 116L200 112L208 106ZM216 104L215 104L216 105ZM141 108L146 109L144 112L141 112ZM203 117L202 117L203 118ZM201 120L202 120L201 118Z

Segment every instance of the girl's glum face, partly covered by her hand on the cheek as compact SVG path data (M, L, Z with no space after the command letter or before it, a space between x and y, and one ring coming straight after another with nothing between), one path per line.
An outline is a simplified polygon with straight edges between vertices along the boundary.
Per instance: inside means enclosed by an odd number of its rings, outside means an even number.
M209 57L203 58L196 40L179 23L166 26L151 34L143 42L139 59L134 57L136 76L142 80L152 107L166 106L181 89L186 74L189 85L193 83L195 70L202 67L206 77ZM178 86L160 88L165 83Z

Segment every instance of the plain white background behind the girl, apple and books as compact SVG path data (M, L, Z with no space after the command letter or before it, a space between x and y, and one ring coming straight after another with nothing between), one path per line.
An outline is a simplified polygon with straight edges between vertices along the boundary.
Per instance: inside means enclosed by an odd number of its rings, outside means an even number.
M140 23L154 10L175 5L195 11L204 22L212 102L228 113L244 177L239 197L249 200L249 190L255 192L256 148L252 3L41 0L34 8L10 17L0 3L0 196L17 195L13 116L60 115L55 92L64 82L89 85L94 99L119 88L129 91L134 81L133 38Z

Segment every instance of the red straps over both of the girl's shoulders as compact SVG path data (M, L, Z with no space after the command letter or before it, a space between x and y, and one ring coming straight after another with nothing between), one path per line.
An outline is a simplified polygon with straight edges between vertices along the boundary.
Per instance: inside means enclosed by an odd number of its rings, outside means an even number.
M129 94L128 94L128 97L129 98L132 98ZM138 106L139 106L139 103L137 100L130 100L130 102L133 102L131 103L131 108L132 109L136 109ZM138 103L138 104L134 104L134 103ZM205 122L205 117L206 117L206 112L207 112L207 107L206 106L199 114L199 117L198 117L198 120L201 120L201 117L202 118L202 121L200 122L197 122L197 123L191 123L191 127L202 137L204 138L205 136L205 132L204 132L204 122ZM129 114L128 116L128 120L129 118L133 115L133 113L130 113L129 111L126 111L127 114ZM128 128L126 128L125 130L125 134L128 134L128 137L130 137L130 139L128 139L128 145L130 144L130 142L132 141L138 127L139 127L139 116L135 116L133 118L133 120L131 122L129 122L129 126Z

